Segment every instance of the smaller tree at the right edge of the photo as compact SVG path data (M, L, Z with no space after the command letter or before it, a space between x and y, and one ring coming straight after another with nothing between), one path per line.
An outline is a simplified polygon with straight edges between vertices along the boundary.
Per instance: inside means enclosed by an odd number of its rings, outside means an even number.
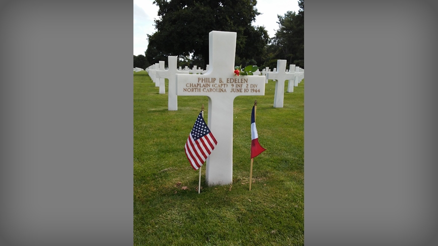
M298 13L288 11L284 16L278 15L280 28L272 38L272 45L279 59L304 68L304 0L298 1L298 7Z

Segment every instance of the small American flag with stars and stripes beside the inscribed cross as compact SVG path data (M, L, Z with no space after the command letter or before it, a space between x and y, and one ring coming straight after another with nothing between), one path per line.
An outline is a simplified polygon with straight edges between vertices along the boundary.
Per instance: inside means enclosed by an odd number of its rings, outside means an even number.
M202 111L199 113L195 121L195 126L188 134L187 142L185 143L185 155L193 169L198 170L211 154L217 141L213 134L205 124L202 117Z

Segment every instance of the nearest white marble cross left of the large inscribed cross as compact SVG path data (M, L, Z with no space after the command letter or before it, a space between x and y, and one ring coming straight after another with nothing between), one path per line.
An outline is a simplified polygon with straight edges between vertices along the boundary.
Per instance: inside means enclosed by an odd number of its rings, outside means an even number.
M188 74L188 71L178 71L176 69L177 57L168 56L169 69L157 71L160 78L167 78L169 80L169 99L168 110L178 110L178 98L176 96L176 74ZM181 67L180 67L181 68ZM161 89L161 87L160 87Z

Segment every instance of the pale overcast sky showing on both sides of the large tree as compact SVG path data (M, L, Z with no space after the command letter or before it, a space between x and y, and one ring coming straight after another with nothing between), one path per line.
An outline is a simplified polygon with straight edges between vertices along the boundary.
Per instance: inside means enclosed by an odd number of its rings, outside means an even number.
M148 47L147 34L156 32L154 19L157 19L158 6L153 0L134 0L134 55L145 54ZM256 17L254 26L265 26L269 37L273 37L278 29L277 15L287 11L298 13L298 0L259 0L256 5L261 13Z

